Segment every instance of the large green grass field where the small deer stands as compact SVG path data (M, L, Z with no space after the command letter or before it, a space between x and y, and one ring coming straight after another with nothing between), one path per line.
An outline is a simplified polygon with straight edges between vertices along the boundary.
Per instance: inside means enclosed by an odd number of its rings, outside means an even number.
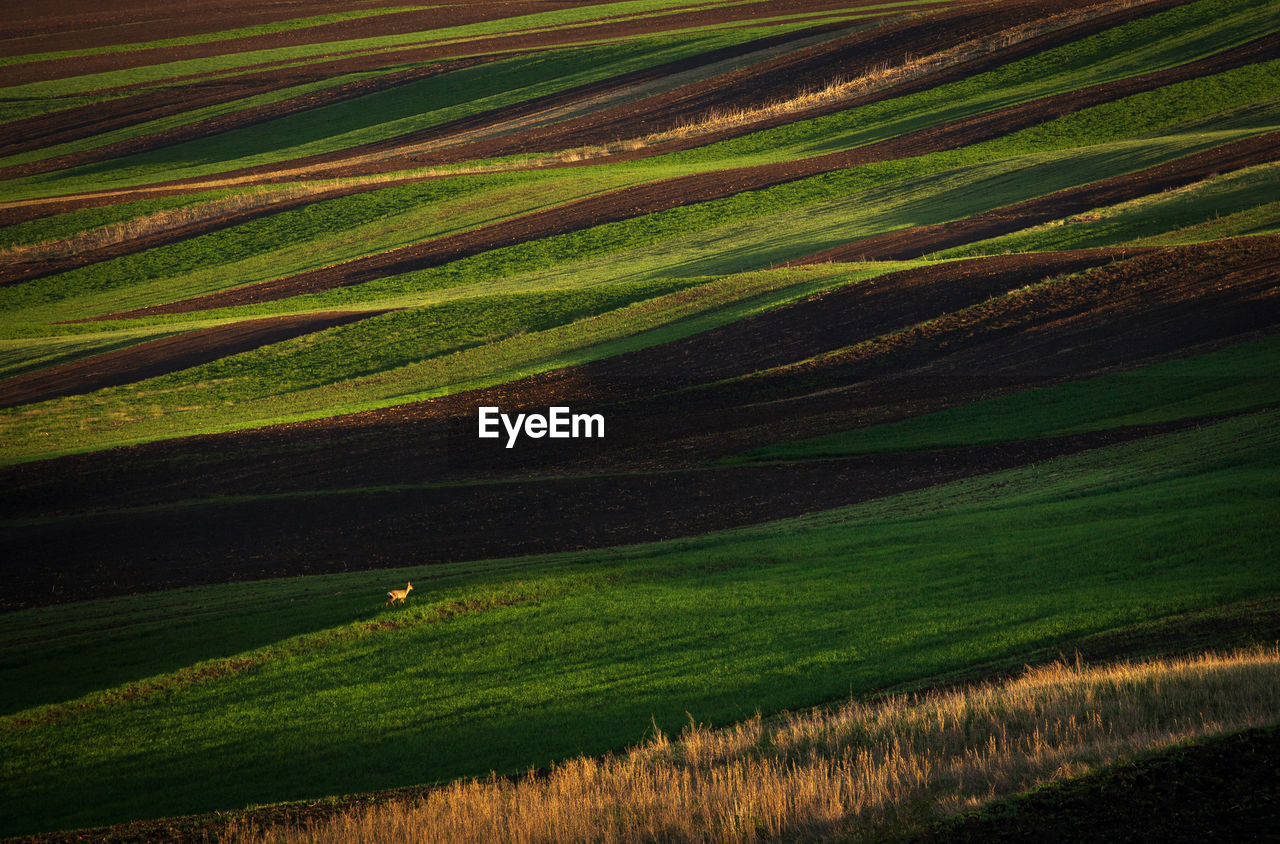
M60 817L90 825L520 771L1271 594L1275 423L608 556L6 616L5 831L65 788L84 808ZM381 608L406 579L410 606ZM207 679L165 674L187 665Z

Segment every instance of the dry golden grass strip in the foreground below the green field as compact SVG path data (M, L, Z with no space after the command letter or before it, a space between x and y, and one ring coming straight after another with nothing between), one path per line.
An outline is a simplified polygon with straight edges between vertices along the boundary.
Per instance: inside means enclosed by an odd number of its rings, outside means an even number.
M1280 651L1057 663L945 693L657 734L544 776L230 840L763 841L876 838L1197 736L1280 718ZM465 752L465 748L460 748Z

